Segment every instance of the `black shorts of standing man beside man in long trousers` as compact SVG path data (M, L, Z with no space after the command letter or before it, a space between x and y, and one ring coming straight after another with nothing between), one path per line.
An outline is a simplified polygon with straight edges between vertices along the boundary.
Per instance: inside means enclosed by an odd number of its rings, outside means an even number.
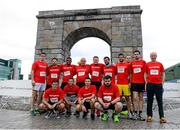
M131 83L132 91L135 92L144 92L145 90L145 83Z

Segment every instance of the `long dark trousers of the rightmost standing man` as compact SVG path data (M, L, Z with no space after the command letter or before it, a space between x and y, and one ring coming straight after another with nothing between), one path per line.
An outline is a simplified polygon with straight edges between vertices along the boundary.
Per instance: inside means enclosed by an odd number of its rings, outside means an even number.
M163 110L163 86L162 84L152 84L147 83L147 116L153 116L152 106L154 95L156 96L156 101L159 108L159 117L164 117Z

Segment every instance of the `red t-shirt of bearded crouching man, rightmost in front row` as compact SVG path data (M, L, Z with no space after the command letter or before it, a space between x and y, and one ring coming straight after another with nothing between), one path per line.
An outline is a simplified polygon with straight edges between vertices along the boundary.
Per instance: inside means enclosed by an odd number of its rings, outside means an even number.
M120 97L120 93L116 85L111 85L110 87L102 85L98 91L98 97L102 98L104 103L110 103L117 97Z

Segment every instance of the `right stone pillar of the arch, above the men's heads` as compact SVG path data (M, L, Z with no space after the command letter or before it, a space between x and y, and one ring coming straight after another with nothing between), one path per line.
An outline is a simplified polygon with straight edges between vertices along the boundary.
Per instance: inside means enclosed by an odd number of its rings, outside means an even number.
M130 13L112 15L112 62L118 61L119 53L132 55L136 49L142 51L140 16Z

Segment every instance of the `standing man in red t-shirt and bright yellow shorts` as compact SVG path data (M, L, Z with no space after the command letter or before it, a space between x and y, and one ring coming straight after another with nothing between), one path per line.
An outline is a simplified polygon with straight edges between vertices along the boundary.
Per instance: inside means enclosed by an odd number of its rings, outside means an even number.
M127 102L128 118L131 118L131 103L130 103L130 88L129 88L129 75L130 66L129 63L125 62L124 54L120 53L118 55L119 63L116 64L117 70L117 86L121 96L125 96Z

